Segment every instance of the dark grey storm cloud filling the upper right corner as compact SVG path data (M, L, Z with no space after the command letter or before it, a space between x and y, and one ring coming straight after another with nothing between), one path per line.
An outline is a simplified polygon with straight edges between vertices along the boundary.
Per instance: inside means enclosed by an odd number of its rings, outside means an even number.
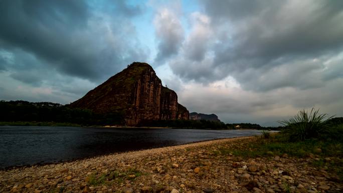
M206 4L208 13L214 14L211 16L217 20L223 19L220 24L227 22L237 31L232 35L233 48L222 49L220 43L215 48L217 63L249 59L247 65L260 67L280 57L312 57L342 47L341 1L308 4L225 1L222 4L225 5ZM223 8L227 12L222 12Z

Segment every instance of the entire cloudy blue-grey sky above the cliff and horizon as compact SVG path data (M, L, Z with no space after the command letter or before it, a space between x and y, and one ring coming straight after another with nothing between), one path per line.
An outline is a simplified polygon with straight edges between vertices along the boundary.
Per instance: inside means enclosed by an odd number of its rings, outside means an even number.
M0 100L69 104L134 61L190 112L343 116L343 1L0 1Z

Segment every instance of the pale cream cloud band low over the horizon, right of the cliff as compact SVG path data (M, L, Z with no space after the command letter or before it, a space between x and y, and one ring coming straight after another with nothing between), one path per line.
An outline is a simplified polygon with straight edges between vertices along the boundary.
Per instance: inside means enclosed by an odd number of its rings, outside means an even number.
M299 90L280 88L266 92L247 91L233 78L215 81L208 85L186 83L179 101L187 104L190 112L215 113L227 123L251 122L277 125L300 109L315 107L330 115L343 115L343 79L325 88Z

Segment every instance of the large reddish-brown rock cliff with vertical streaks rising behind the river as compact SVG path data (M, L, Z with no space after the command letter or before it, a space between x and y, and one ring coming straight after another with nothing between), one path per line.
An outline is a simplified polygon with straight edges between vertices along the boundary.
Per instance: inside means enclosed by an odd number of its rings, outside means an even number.
M137 62L70 104L99 113L122 112L127 125L141 120L178 119L179 105L178 95L161 85L152 67Z

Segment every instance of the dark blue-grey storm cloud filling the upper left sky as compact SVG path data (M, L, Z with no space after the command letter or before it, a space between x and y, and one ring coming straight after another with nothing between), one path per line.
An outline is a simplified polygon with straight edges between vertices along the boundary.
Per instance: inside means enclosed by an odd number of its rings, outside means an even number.
M18 50L33 55L38 61L35 67L41 65L38 68L53 68L62 74L90 80L107 77L133 60L146 58L140 48L135 48L139 44L130 40L135 29L125 19L140 14L139 7L121 1L86 3L1 1L0 48L13 53L16 60L21 57L16 55ZM13 68L21 69L21 66ZM12 77L35 81L18 73Z

